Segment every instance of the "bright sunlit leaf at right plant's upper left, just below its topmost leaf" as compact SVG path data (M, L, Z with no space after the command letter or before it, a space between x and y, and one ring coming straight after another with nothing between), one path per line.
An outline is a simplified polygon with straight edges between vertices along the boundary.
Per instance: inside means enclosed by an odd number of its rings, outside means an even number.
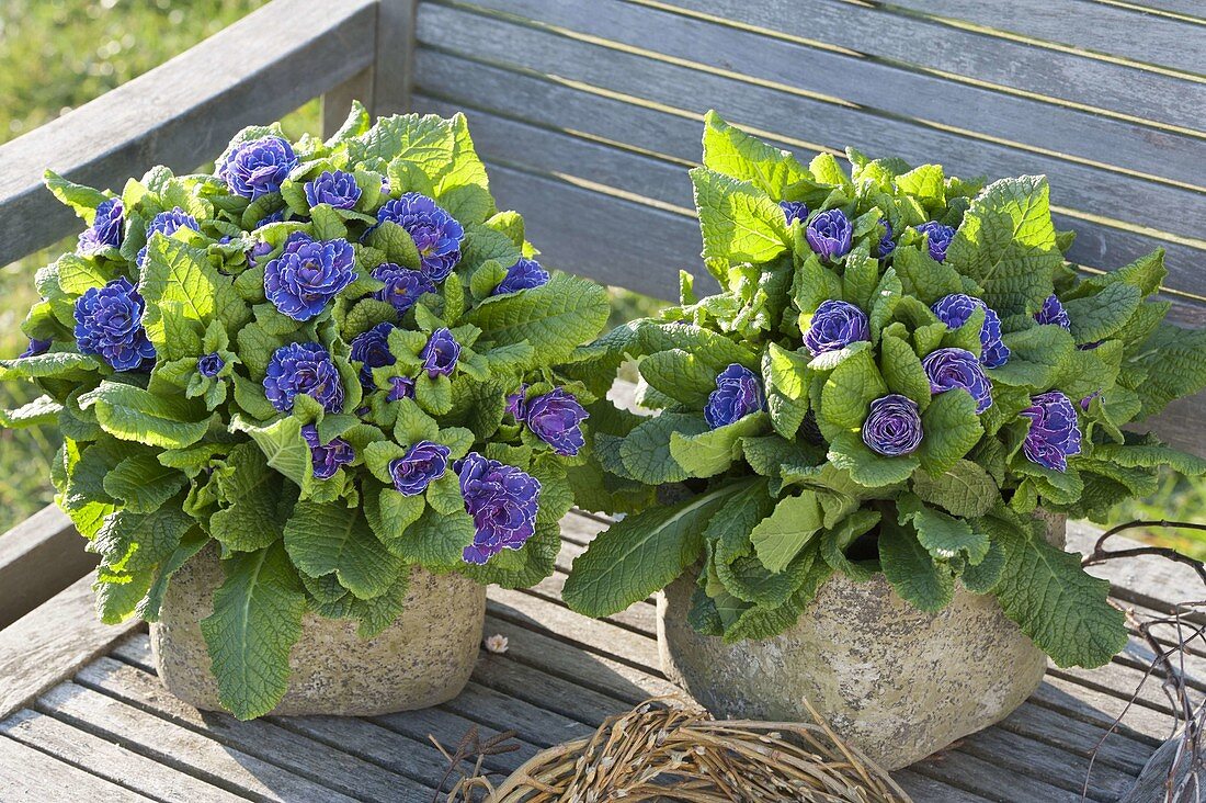
M786 219L766 192L707 168L691 170L691 184L704 260L769 262L788 249Z

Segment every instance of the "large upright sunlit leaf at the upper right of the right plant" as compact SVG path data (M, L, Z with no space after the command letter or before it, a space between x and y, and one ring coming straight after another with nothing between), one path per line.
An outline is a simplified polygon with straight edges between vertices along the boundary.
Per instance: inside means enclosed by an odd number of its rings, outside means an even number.
M983 287L1002 318L1038 309L1052 295L1052 272L1064 263L1055 245L1049 188L1042 176L1002 179L964 213L946 264Z

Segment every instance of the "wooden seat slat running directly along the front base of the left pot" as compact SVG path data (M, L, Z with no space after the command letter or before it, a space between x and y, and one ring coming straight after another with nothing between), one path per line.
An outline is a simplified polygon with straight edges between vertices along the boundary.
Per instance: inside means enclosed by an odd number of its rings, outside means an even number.
M382 802L402 795L431 799L417 781L303 735L304 723L286 729L269 720L240 722L228 714L198 711L164 693L157 677L112 658L84 667L75 680L344 795Z

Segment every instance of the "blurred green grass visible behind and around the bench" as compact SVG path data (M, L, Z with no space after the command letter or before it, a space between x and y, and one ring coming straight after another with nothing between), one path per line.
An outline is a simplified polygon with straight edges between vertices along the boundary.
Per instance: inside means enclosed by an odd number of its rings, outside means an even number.
M0 142L54 120L187 50L268 0L0 0ZM268 122L268 121L263 121ZM311 101L283 121L291 136L317 133ZM25 348L18 326L36 299L34 272L71 248L72 239L0 268L0 355ZM658 302L613 292L611 325L651 314ZM33 398L0 384L0 406ZM0 430L0 533L51 501L47 477L59 437L51 427ZM1167 475L1146 500L1122 502L1112 522L1206 520L1206 483ZM1200 534L1152 533L1151 539L1206 558Z

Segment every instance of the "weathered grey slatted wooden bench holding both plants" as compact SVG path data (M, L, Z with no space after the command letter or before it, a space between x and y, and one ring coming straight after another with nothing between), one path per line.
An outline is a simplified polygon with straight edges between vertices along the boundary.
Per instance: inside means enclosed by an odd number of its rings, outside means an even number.
M76 231L41 187L51 167L119 187L153 163L213 157L242 126L324 95L374 114L464 110L499 204L550 264L656 297L695 268L686 168L702 112L803 155L854 145L964 175L1046 173L1085 270L1163 246L1166 295L1206 321L1206 11L1194 0L276 0L170 63L0 146L0 264ZM1202 452L1201 401L1155 421ZM560 603L603 524L564 522L558 572L490 593L464 696L371 720L239 723L168 696L136 624L95 621L90 557L47 508L0 535L0 798L429 801L470 723L535 750L668 689L652 607L605 622ZM1094 537L1077 526L1071 545ZM1095 570L1099 571L1099 570ZM1194 588L1158 563L1101 568L1116 597L1166 610ZM1143 676L1132 646L1095 671L1053 670L1001 725L900 773L918 801L1076 801L1088 756ZM1206 652L1190 656L1206 689ZM1102 743L1088 798L1118 799L1166 739L1154 683ZM53 782L51 781L53 779Z

